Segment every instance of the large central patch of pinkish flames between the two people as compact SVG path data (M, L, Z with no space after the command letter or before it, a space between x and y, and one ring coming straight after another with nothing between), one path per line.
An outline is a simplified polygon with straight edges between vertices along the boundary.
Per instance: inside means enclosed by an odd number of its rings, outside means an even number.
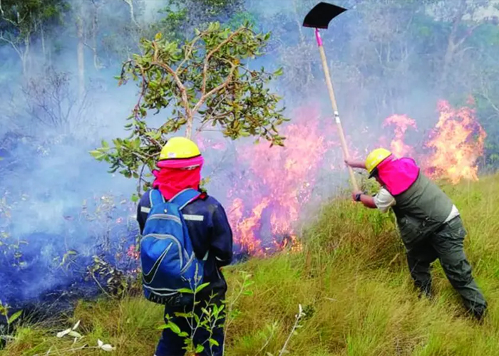
M268 142L262 142L237 148L238 161L247 170L238 179L242 187L230 192L229 219L235 243L252 255L289 245L294 251L300 249L293 225L333 144L326 141L317 112L307 108L297 117L282 130L285 147L269 148Z

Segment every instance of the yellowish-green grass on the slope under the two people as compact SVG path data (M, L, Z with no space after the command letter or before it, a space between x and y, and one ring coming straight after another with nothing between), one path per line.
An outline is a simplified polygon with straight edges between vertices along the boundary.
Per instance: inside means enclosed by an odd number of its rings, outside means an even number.
M251 273L254 281L253 295L237 301L241 314L228 330L226 355L278 355L299 304L307 315L287 355L498 355L499 176L446 191L461 210L468 229L465 250L488 299L483 325L465 315L438 263L433 271L436 298L419 299L391 217L340 199L319 209L317 221L303 233L302 252L254 258L225 269L231 295L241 271ZM55 335L76 320L81 320L78 330L86 335L76 345L96 345L101 339L117 347L112 354L100 351L103 355L152 356L162 310L140 297L82 302L59 325L19 328L16 340L0 355L67 349L71 337ZM275 332L268 340L271 325Z

